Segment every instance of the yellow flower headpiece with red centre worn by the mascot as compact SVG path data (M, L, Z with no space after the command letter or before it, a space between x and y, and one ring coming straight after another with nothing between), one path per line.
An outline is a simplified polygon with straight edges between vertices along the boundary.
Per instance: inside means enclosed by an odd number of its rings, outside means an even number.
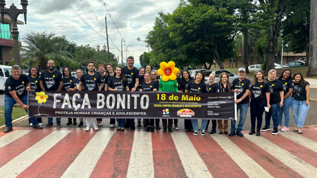
M163 81L168 81L168 80L175 80L176 75L179 71L178 68L175 67L175 63L173 61L169 61L168 63L166 62L161 62L159 64L160 68L157 71L158 75L162 76ZM166 73L166 70L170 70L170 74Z

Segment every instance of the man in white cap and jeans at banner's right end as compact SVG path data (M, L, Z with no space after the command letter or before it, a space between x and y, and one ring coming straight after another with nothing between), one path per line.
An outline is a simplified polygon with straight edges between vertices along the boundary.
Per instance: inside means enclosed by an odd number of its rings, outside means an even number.
M239 78L232 81L231 91L236 93L236 106L237 112L240 110L240 119L238 128L236 128L236 120L231 120L231 132L230 137L238 135L243 137L241 133L242 127L244 125L245 118L247 117L248 107L249 107L249 92L251 90L251 82L244 76L247 74L245 68L241 67L238 70Z

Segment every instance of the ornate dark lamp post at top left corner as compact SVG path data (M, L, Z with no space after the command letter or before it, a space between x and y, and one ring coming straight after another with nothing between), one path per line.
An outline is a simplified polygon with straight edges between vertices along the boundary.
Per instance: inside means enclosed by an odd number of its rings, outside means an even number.
M13 49L14 49L14 64L21 67L20 59L20 46L19 46L19 31L17 26L17 18L20 14L24 15L24 23L26 24L26 7L29 5L28 0L21 0L22 9L17 9L14 3L10 6L9 9L4 9L5 0L0 0L0 14L1 14L1 23L4 23L4 15L8 14L11 18L11 35L13 39Z

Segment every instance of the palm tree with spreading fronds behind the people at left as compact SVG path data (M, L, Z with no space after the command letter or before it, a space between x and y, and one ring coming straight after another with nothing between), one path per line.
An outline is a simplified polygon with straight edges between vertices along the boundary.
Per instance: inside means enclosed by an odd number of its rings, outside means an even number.
M58 49L59 43L68 43L68 41L65 38L61 39L53 32L29 31L21 39L24 43L21 48L21 59L26 65L37 64L39 70L43 71L47 68L48 60L53 60L55 66L74 63L70 58L71 53Z

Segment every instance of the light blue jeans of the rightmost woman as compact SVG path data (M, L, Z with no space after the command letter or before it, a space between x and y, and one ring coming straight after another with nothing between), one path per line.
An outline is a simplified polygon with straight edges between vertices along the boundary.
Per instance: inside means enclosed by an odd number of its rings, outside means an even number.
M294 125L297 125L298 127L304 126L309 105L306 106L306 101L298 101L298 100L292 99L292 113L293 113Z

